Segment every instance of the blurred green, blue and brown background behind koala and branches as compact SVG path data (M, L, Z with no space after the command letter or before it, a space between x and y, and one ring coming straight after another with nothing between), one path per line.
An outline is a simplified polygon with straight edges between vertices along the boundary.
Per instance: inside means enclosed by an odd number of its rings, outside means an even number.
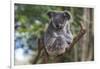
M32 64L37 55L37 40L43 35L49 23L47 12L53 10L67 10L72 14L71 31L73 36L76 36L80 31L79 23L84 24L86 28L86 34L75 44L70 54L65 54L63 58L60 58L60 61L79 62L94 60L93 8L15 4L15 65ZM39 59L38 63L41 63L42 58Z

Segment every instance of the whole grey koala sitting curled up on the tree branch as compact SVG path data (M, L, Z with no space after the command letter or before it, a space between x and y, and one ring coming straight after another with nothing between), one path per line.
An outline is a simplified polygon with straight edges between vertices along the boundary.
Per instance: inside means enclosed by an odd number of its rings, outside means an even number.
M48 55L63 54L73 41L70 30L71 14L68 11L51 11L47 15L50 23L44 34L45 49Z

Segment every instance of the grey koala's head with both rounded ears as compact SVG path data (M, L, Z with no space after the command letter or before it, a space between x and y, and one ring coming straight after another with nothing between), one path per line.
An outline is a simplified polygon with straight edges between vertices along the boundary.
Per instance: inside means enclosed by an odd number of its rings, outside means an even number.
M48 16L51 19L51 23L53 24L54 28L62 29L64 28L66 21L71 19L71 15L67 11L60 11L60 12L48 12Z

